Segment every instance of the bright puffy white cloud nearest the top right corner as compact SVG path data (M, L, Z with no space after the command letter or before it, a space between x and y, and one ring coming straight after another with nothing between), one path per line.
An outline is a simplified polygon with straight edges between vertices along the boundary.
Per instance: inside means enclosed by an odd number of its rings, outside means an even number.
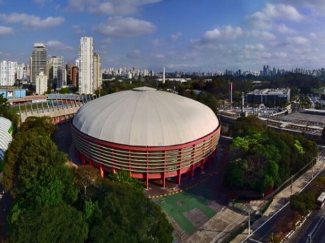
M246 17L248 23L258 28L270 28L274 19L299 22L303 16L291 5L267 4L262 12L255 12Z

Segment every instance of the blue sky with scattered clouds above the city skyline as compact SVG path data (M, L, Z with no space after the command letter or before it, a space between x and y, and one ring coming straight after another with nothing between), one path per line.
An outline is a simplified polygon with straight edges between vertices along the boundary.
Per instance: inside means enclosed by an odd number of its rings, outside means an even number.
M74 61L93 36L103 67L321 68L324 24L324 0L0 0L0 60Z

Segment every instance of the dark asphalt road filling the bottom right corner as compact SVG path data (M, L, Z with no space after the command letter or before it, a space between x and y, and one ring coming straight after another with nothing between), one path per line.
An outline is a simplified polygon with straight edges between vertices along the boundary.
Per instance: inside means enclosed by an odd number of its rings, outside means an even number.
M310 241L311 234L312 240ZM325 242L325 207L315 210L288 240L290 243Z

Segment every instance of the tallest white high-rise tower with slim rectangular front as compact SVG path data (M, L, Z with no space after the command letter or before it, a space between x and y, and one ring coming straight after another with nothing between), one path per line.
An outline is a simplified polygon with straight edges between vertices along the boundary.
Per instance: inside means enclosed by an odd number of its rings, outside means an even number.
M93 38L81 37L79 47L79 94L93 94Z

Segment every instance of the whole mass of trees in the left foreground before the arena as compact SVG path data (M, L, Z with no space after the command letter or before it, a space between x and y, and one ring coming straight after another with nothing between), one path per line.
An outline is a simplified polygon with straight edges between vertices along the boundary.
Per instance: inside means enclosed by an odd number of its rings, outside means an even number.
M104 179L90 166L69 167L52 133L50 119L30 118L6 152L9 242L173 241L173 227L142 183L125 172Z

